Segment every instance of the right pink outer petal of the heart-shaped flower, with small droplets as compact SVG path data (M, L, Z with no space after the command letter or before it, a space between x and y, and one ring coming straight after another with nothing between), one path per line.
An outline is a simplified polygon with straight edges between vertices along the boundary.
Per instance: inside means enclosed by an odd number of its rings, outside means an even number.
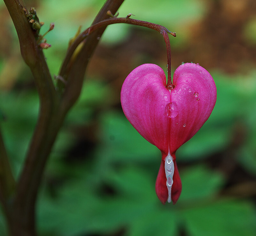
M180 65L174 72L173 84L171 102L175 104L178 115L171 119L171 154L202 127L216 103L214 80L200 65Z

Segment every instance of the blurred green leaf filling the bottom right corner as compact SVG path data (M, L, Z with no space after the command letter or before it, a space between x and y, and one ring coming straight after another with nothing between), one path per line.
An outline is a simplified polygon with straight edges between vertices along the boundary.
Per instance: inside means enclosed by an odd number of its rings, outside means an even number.
M191 207L182 215L191 236L253 236L256 232L255 211L249 202L222 200Z

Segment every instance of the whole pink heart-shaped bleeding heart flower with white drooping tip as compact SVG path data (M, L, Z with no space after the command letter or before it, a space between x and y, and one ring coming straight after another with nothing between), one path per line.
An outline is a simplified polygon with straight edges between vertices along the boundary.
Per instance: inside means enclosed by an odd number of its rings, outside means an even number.
M181 180L175 153L201 128L215 103L214 80L199 64L180 65L169 87L164 71L154 64L140 65L124 80L121 104L126 118L162 153L156 179L162 203L177 202Z

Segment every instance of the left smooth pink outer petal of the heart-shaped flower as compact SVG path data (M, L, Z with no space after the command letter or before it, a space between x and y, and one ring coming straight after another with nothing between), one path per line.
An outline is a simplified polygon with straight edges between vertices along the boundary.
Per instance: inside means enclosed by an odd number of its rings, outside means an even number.
M161 67L144 64L135 68L124 80L121 104L132 126L167 156L170 118L165 108L170 92Z

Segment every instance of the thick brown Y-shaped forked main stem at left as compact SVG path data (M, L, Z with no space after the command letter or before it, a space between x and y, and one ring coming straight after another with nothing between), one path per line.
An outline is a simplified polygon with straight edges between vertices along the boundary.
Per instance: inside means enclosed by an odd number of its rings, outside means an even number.
M71 73L68 75L66 96L60 101L52 83L42 50L38 48L33 32L18 0L4 0L16 28L22 57L30 67L40 98L40 112L36 129L28 150L24 168L17 183L11 204L10 232L12 235L36 235L35 202L47 158L66 113L80 94L88 57L91 57L105 28L90 35L84 42ZM123 0L108 0L93 23L106 19L106 12L116 12ZM9 214L10 216L10 214Z

